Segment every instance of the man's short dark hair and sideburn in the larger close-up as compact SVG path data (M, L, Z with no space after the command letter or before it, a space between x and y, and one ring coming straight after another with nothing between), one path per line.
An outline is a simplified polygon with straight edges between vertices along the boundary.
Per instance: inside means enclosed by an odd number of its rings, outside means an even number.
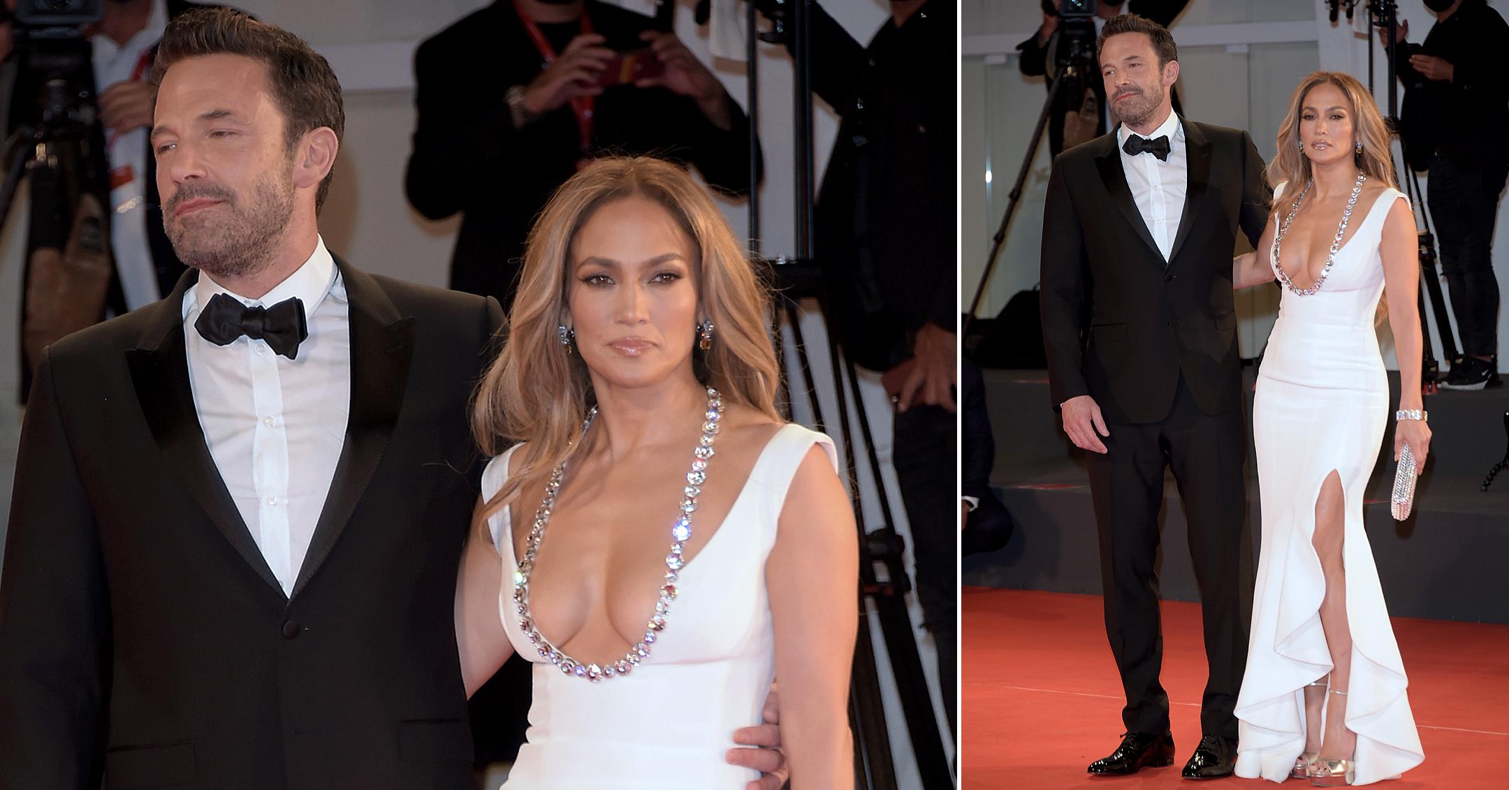
M174 63L207 54L240 54L267 66L273 101L287 119L284 145L288 151L309 130L329 127L337 140L346 133L341 81L330 63L299 36L228 8L187 11L167 24L152 60L152 89L161 86L163 74ZM315 211L324 205L333 175L332 169L320 182Z

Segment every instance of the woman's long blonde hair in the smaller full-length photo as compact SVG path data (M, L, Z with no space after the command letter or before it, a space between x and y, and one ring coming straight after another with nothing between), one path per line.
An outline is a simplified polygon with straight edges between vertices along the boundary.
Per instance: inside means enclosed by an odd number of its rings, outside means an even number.
M1274 155L1274 161L1268 163L1268 185L1277 190L1280 184L1284 184L1289 201L1293 201L1310 181L1313 175L1310 157L1299 149L1299 116L1305 96L1316 86L1325 83L1334 84L1352 106L1352 128L1357 131L1358 140L1363 142L1363 152L1355 154L1357 169L1367 173L1369 178L1399 188L1388 124L1378 112L1378 103L1373 101L1367 87L1357 81L1357 77L1340 71L1316 71L1299 80L1299 87L1295 87L1293 95L1289 96L1289 113L1284 115L1284 124L1278 127L1278 154ZM1348 145L1357 145L1357 140L1348 140ZM1277 202L1278 198L1275 198L1275 205Z

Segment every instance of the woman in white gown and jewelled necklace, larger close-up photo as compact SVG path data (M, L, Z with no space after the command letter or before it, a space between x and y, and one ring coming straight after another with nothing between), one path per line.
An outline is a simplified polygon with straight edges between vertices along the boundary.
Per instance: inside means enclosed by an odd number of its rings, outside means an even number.
M831 440L776 413L767 305L664 161L587 166L531 232L456 606L468 694L534 662L510 790L742 788L776 677L792 787L853 787L853 511Z

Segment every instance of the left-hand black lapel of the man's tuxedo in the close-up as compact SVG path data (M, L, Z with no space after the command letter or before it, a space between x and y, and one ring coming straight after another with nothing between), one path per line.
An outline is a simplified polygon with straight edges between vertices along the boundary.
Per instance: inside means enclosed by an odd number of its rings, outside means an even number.
M241 555L250 568L263 577L278 596L282 586L273 576L261 549L241 522L235 501L220 479L220 470L204 443L199 428L199 410L189 386L189 351L184 347L183 299L184 291L198 279L187 271L174 292L142 311L152 311L148 330L137 348L128 350L127 365L142 416L152 431L157 449L180 482L195 498L225 540Z

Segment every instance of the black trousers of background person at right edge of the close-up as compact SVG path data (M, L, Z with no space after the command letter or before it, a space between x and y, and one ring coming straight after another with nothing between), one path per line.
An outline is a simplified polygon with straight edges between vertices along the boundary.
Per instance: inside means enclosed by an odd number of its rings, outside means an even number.
M911 525L917 602L939 651L949 730L958 731L958 416L937 406L896 415L892 461Z

